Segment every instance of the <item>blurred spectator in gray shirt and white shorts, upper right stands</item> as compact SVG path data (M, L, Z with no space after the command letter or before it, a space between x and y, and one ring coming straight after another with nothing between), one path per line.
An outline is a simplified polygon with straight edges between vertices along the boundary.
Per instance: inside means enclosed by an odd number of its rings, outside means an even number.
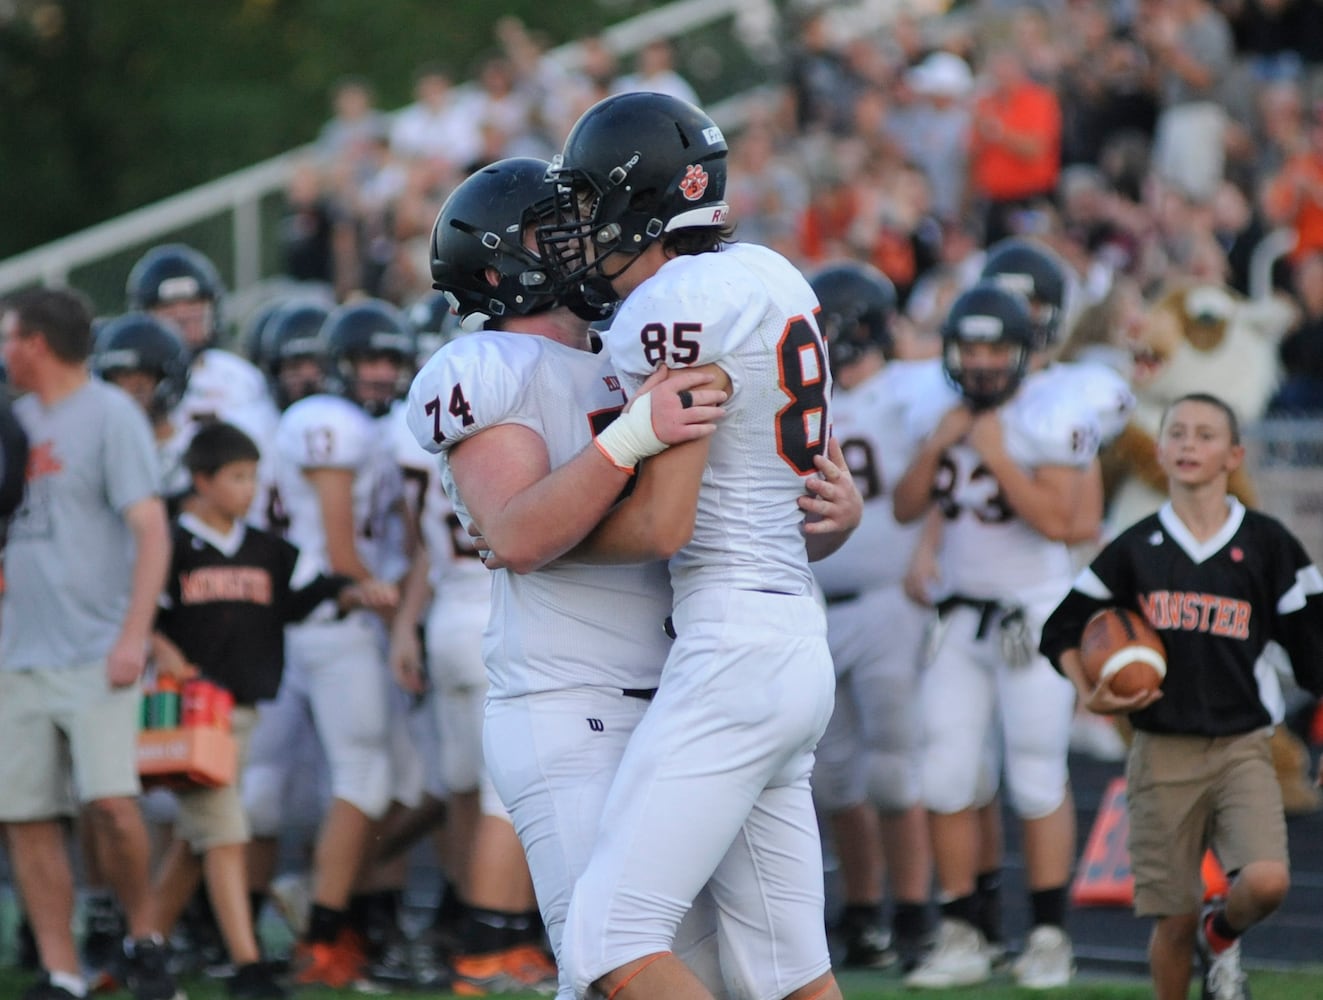
M1226 111L1218 90L1232 67L1230 26L1208 0L1140 0L1136 29L1159 79L1154 171L1208 201L1222 180Z

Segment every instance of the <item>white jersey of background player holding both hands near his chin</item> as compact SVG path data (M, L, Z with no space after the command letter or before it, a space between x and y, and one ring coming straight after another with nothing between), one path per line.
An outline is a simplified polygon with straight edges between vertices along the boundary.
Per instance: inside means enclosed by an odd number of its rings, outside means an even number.
M1007 454L1021 468L1085 468L1098 452L1095 414L1061 393L1029 392L1028 384L999 409ZM926 410L931 433L941 419ZM934 415L935 414L935 415ZM934 481L942 532L942 582L953 594L1032 604L1060 598L1074 575L1070 550L1020 517L978 452L957 444L942 456Z

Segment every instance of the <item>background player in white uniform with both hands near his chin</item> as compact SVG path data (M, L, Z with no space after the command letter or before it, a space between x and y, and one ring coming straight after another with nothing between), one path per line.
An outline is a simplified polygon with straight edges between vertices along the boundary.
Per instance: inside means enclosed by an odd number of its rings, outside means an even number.
M1066 540L1081 530L1080 512L1101 513L1090 475L1099 431L1086 409L1053 409L1027 392L1035 339L1017 292L982 280L955 300L943 364L959 393L912 414L922 444L896 485L897 520L917 520L934 503L945 517L942 630L919 685L923 799L943 919L934 951L906 978L921 988L991 972L978 926L976 811L995 795L1002 767L1024 825L1033 913L1016 979L1049 988L1069 983L1074 968L1062 927L1074 860L1066 771L1074 697L1033 642L1069 589Z

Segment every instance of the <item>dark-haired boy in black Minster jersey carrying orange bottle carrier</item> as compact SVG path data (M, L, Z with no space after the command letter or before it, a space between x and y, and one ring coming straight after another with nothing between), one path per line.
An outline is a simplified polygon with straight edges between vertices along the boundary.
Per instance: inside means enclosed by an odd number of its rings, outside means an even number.
M299 553L283 538L243 522L257 489L258 448L237 427L197 431L184 463L193 496L173 529L173 558L156 619L157 671L201 676L234 696L232 729L239 771L255 704L275 697L284 669L284 624L324 601L389 607L394 587L347 577L299 586ZM230 995L279 997L286 991L259 960L249 910L243 845L247 821L237 786L180 794L175 843L157 877L161 926L169 929L205 876L225 944L237 967Z

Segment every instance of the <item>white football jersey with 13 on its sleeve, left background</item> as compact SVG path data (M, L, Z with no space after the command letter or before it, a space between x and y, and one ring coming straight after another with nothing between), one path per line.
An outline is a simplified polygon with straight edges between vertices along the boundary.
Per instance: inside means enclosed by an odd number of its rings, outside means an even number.
M277 481L290 519L288 538L319 571L329 573L331 560L321 503L304 471L345 468L353 472L359 558L373 575L398 575L398 534L388 528L388 520L397 515L404 488L390 451L378 447L380 439L377 421L339 396L310 396L280 417Z

